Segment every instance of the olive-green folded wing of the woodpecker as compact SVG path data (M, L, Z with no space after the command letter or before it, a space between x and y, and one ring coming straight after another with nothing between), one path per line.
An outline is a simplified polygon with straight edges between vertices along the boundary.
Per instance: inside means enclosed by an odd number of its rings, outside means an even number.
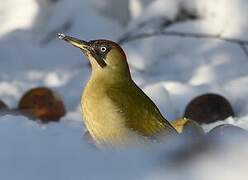
M146 137L176 133L152 100L136 84L111 88L107 94L125 117L129 129Z

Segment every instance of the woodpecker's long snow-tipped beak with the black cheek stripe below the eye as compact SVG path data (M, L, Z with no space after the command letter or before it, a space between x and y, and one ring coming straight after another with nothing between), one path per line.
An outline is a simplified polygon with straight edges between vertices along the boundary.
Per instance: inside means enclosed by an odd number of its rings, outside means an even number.
M97 51L90 46L89 42L71 36L66 36L63 33L58 33L58 36L60 39L81 49L86 56L88 56L88 54L91 54L102 68L107 65L106 62L98 55Z

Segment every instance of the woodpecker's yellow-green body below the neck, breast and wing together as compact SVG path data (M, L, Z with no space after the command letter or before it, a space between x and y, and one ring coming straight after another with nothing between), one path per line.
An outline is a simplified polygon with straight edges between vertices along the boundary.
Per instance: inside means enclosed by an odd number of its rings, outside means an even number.
M137 139L177 134L129 76L106 81L102 75L92 74L82 97L86 127L98 144L137 144Z

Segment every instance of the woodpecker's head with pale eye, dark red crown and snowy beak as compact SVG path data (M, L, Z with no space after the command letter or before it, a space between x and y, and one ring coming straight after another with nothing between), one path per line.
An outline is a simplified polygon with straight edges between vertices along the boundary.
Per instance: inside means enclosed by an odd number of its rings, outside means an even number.
M117 43L103 39L84 41L61 33L58 36L82 50L91 63L93 73L109 77L130 76L126 55Z

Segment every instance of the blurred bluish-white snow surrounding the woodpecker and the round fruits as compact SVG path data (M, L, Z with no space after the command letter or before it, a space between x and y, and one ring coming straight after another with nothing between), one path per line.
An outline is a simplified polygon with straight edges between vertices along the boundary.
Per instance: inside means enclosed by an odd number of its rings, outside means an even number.
M0 179L247 179L248 143L242 139L176 166L161 146L97 151L83 139L79 110L90 68L79 50L55 37L63 31L86 40L118 40L144 22L135 33L161 28L161 19L175 20L184 8L199 19L169 30L248 40L247 0L0 1L0 99L15 108L26 90L48 86L68 111L60 123L47 125L0 117ZM196 95L214 92L237 115L225 122L248 129L248 56L237 44L156 36L123 48L134 80L169 120L181 117Z

